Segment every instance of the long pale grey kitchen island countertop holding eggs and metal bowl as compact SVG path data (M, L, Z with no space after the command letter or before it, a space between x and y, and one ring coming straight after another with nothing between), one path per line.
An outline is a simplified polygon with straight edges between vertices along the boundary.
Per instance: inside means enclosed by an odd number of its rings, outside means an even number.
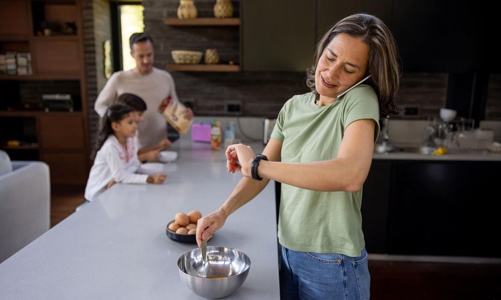
M196 244L169 239L165 226L176 212L218 208L241 175L227 172L223 147L178 140L171 150L178 158L164 165L163 184L116 184L1 263L0 298L200 298L176 264ZM230 215L211 245L235 247L251 260L228 299L280 298L274 184Z

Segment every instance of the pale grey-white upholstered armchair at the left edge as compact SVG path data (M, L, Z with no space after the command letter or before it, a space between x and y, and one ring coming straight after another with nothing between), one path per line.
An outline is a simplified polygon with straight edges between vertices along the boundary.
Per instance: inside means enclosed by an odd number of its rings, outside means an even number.
M0 263L50 228L49 166L0 150Z

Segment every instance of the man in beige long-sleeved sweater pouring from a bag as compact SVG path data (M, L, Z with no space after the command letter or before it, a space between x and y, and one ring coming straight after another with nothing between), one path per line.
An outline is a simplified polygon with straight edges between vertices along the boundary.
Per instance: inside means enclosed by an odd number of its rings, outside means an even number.
M141 97L147 105L144 120L138 125L140 147L158 144L166 139L167 122L158 105L168 96L178 100L172 75L153 66L153 39L144 32L130 36L130 54L136 60L131 70L117 71L111 75L94 104L96 112L103 116L108 106L113 104L122 93L132 93ZM186 109L185 118L192 119L193 111ZM168 143L170 145L170 143Z

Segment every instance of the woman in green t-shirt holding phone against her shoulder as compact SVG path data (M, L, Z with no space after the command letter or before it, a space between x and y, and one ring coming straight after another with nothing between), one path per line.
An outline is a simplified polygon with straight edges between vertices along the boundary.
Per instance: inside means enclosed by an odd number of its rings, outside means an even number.
M282 182L282 298L369 298L362 185L379 114L398 113L397 61L393 36L377 17L355 14L336 23L307 72L312 91L284 105L266 157L243 144L226 150L228 171L244 177L219 209L198 220L198 244L270 179L277 180ZM336 98L368 75L365 84Z

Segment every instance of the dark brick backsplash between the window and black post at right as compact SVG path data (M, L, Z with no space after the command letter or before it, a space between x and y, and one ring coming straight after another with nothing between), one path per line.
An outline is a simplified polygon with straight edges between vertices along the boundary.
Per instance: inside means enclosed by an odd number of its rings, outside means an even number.
M239 1L231 1L238 16ZM176 17L178 0L144 0L145 31L155 42L155 66L173 63L170 51L217 49L223 62L239 63L238 27L177 27L164 24L165 17ZM198 16L213 16L213 0L195 2ZM225 104L238 103L245 116L276 116L294 94L305 93L303 72L171 72L181 100L191 102L196 115L229 115ZM401 114L396 118L426 118L438 115L444 106L446 73L405 73L401 78L398 104L417 107L418 114ZM403 111L403 109L402 109Z

